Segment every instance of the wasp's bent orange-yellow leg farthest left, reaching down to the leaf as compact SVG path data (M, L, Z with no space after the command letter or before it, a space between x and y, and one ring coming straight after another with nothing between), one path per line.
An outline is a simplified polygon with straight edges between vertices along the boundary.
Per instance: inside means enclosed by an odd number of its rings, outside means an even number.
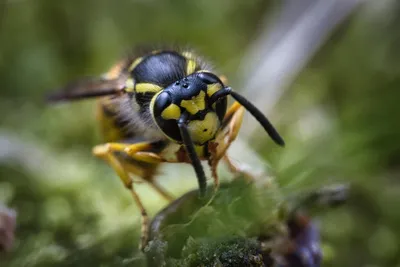
M126 153L135 160L144 162L160 162L157 161L159 158L154 153L144 153L146 155L140 155L139 151L151 148L151 143L138 143L138 144L120 144L120 143L107 143L104 145L98 145L93 148L93 154L99 158L105 160L118 174L125 187L131 192L131 195L140 209L142 226L141 226L141 239L139 248L143 250L147 245L149 237L149 217L146 209L140 200L139 195L136 193L133 187L133 180L129 176L126 164L123 164L121 160L116 156L116 153ZM138 155L139 154L139 155ZM149 154L149 155L147 155ZM154 154L154 155L153 155Z

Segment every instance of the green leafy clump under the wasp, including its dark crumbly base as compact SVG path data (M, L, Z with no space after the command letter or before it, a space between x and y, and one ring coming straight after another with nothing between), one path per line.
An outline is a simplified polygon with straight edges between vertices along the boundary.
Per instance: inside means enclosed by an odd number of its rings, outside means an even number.
M205 200L182 196L153 220L146 248L149 265L264 266L259 236L283 223L276 191L236 179ZM273 197L275 195L275 197Z

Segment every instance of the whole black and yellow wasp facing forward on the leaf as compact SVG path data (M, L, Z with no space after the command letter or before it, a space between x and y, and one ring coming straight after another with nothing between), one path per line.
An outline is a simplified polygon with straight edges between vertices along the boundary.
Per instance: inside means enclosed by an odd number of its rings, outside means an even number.
M203 197L207 179L202 160L211 168L215 188L221 159L231 170L240 171L226 151L237 137L244 109L277 144L284 145L269 120L224 80L194 52L165 49L128 55L105 75L82 78L48 96L50 102L98 99L104 143L95 146L93 154L114 169L140 209L141 248L147 243L149 220L133 175L172 200L154 179L157 168L163 162L189 163ZM236 100L229 109L228 96Z

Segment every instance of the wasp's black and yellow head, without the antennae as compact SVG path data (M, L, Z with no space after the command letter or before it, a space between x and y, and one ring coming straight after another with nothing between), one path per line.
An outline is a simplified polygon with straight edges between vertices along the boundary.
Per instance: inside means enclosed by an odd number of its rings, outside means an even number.
M194 73L178 80L154 96L151 109L158 127L181 142L177 120L186 114L187 128L195 144L214 139L226 112L226 99L209 104L210 96L223 88L211 73Z

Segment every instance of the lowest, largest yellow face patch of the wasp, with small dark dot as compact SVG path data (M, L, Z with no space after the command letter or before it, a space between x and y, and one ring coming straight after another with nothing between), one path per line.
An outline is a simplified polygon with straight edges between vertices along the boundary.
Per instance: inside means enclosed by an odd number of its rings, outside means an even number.
M189 122L188 130L195 144L204 144L214 139L220 123L215 112L209 112L203 120Z

